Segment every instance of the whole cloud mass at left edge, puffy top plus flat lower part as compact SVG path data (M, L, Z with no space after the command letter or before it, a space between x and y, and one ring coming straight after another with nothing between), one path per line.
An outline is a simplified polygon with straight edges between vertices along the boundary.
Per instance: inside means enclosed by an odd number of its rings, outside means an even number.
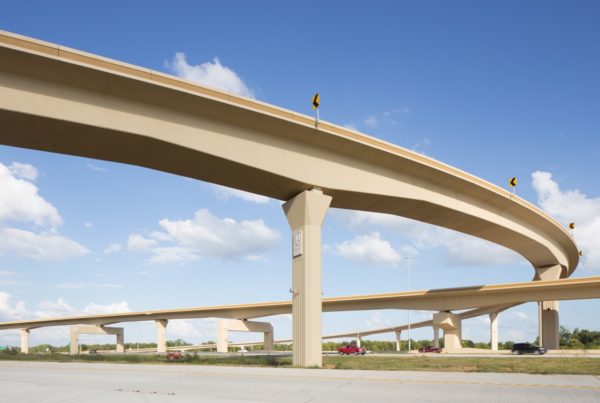
M57 233L62 217L38 194L33 183L37 177L37 169L29 164L0 163L0 255L64 260L87 254L87 248ZM35 231L14 228L7 223L36 228Z

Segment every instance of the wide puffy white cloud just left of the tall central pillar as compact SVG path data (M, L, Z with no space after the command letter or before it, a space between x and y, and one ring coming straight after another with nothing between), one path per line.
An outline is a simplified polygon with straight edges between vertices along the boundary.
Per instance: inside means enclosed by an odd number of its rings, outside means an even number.
M159 225L162 231L153 231L150 237L129 236L129 250L150 253L149 263L185 263L203 258L260 260L261 253L281 237L263 220L219 218L207 209L196 211L192 219L165 218Z

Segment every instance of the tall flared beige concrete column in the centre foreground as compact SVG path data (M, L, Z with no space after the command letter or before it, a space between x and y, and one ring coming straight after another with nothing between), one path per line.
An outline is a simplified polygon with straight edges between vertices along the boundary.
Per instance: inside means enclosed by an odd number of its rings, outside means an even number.
M293 364L321 366L321 227L331 197L304 191L283 205L292 229Z

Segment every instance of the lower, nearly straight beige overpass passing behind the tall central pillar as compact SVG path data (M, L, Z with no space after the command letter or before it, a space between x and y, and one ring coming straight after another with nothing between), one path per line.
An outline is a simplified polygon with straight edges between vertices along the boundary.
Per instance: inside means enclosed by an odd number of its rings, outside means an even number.
M431 311L451 311L471 309L467 312L453 315L458 325L444 328L443 324L436 323L436 316L432 321L417 322L412 327L433 326L437 335L437 328L442 327L449 337L457 327L460 338L460 321L488 313L497 313L512 305L541 301L548 297L558 300L578 300L600 298L600 276L586 278L571 278L548 280L539 282L523 282L511 284L486 285L478 287L460 287L425 291L408 291L400 293L385 293L371 295L357 295L347 297L323 298L324 312L358 311L373 309L422 309ZM487 306L486 306L487 305ZM107 326L122 322L155 321L158 329L159 351L166 351L164 332L169 320L174 319L199 319L199 318L229 318L247 320L251 318L266 317L292 313L291 301L262 302L244 305L224 305L211 307L196 307L187 309L165 309L144 312L124 312L116 314L86 315L65 318L49 318L0 323L0 330L20 329L23 337L28 339L32 329L48 326L75 326L96 325ZM436 315L448 315L441 312ZM452 315L452 314L450 314ZM374 329L362 332L348 332L329 335L326 338L340 338L347 336L367 336L371 334L400 332L408 325L395 326L383 329ZM451 341L446 338L446 345ZM437 338L437 337L436 337ZM454 340L454 339L452 339ZM22 345L26 345L23 341ZM160 345L162 344L162 345Z

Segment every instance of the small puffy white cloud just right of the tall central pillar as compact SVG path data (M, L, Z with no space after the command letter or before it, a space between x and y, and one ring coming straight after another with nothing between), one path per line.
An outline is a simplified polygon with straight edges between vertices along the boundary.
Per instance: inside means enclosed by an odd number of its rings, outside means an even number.
M381 239L378 232L356 236L351 241L335 245L335 253L359 263L371 263L382 266L396 266L402 256L392 245Z

